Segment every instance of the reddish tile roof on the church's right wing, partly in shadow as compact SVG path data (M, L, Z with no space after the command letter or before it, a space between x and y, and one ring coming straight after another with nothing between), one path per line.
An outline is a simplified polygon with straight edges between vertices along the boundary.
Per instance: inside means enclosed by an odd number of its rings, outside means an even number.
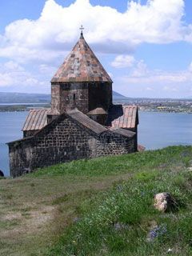
M138 106L114 105L110 108L107 126L134 129L138 125Z

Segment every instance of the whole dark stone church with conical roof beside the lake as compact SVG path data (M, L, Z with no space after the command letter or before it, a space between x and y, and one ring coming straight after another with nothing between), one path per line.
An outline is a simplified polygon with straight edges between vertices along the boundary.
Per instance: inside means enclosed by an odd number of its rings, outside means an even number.
M51 108L30 110L9 142L10 174L138 150L138 107L113 105L112 80L83 34L51 80Z

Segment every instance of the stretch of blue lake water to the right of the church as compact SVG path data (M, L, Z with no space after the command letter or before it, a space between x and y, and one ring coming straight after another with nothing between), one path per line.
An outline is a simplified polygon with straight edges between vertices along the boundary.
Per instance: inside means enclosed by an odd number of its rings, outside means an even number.
M139 112L138 143L146 150L192 146L192 114Z

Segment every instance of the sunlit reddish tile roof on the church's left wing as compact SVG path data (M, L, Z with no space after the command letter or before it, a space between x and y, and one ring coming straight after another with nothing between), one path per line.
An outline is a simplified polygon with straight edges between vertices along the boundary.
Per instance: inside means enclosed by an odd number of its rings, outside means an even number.
M47 125L47 114L49 113L50 109L30 110L22 130L41 130Z

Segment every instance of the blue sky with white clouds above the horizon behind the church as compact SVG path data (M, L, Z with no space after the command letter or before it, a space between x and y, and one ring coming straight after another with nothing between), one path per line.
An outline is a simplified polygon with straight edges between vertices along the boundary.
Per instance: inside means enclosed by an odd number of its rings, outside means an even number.
M0 1L0 91L50 93L81 25L118 93L192 97L191 0Z

